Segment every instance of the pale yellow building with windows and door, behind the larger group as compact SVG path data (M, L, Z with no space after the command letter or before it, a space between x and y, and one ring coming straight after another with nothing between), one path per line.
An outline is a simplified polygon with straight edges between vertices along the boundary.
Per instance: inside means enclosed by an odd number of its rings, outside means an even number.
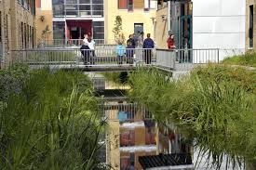
M105 3L105 39L107 44L113 44L115 34L115 17L122 19L122 33L128 39L128 35L135 33L138 36L141 32L151 33L154 38L155 30L155 0L112 0ZM146 35L146 34L145 34ZM157 42L156 42L157 44Z

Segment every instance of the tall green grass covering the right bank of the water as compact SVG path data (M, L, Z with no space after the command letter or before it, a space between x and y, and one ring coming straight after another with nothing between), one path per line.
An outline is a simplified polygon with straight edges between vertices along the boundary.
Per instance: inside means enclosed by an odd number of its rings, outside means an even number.
M129 78L131 98L193 139L200 154L213 159L215 166L209 168L219 169L224 156L238 168L244 160L256 161L255 72L209 65L178 81L155 70L133 72Z

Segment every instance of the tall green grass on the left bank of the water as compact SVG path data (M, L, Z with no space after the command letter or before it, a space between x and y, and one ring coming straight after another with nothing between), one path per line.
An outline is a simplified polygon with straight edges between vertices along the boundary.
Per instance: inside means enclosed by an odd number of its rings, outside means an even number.
M102 169L98 99L80 72L29 72L0 110L0 169Z

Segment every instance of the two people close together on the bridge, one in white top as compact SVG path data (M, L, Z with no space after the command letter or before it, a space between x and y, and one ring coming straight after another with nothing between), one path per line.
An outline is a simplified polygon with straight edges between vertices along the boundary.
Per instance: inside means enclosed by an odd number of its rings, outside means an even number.
M84 35L84 45L80 47L81 53L84 56L83 60L85 65L94 64L95 57L95 42L88 34Z

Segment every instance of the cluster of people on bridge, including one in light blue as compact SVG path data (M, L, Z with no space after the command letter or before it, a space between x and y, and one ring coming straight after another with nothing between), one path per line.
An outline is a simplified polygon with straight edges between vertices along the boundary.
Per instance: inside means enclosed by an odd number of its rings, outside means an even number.
M135 55L137 58L141 56L146 64L151 64L152 48L154 47L155 43L150 38L150 33L147 33L146 39L144 39L143 32L140 33L140 36L137 39L134 38L134 34L130 34L128 36L127 46L124 46L123 43L119 41L115 48L117 63L122 64L124 60L127 60L128 64L133 64Z

